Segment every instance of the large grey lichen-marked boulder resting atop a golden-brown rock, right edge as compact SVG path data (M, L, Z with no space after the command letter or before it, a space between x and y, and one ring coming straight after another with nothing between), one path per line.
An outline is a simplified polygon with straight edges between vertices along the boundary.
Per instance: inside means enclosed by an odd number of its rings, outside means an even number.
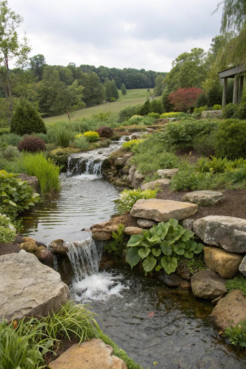
M193 229L208 245L230 252L246 252L246 219L209 215L195 220Z

